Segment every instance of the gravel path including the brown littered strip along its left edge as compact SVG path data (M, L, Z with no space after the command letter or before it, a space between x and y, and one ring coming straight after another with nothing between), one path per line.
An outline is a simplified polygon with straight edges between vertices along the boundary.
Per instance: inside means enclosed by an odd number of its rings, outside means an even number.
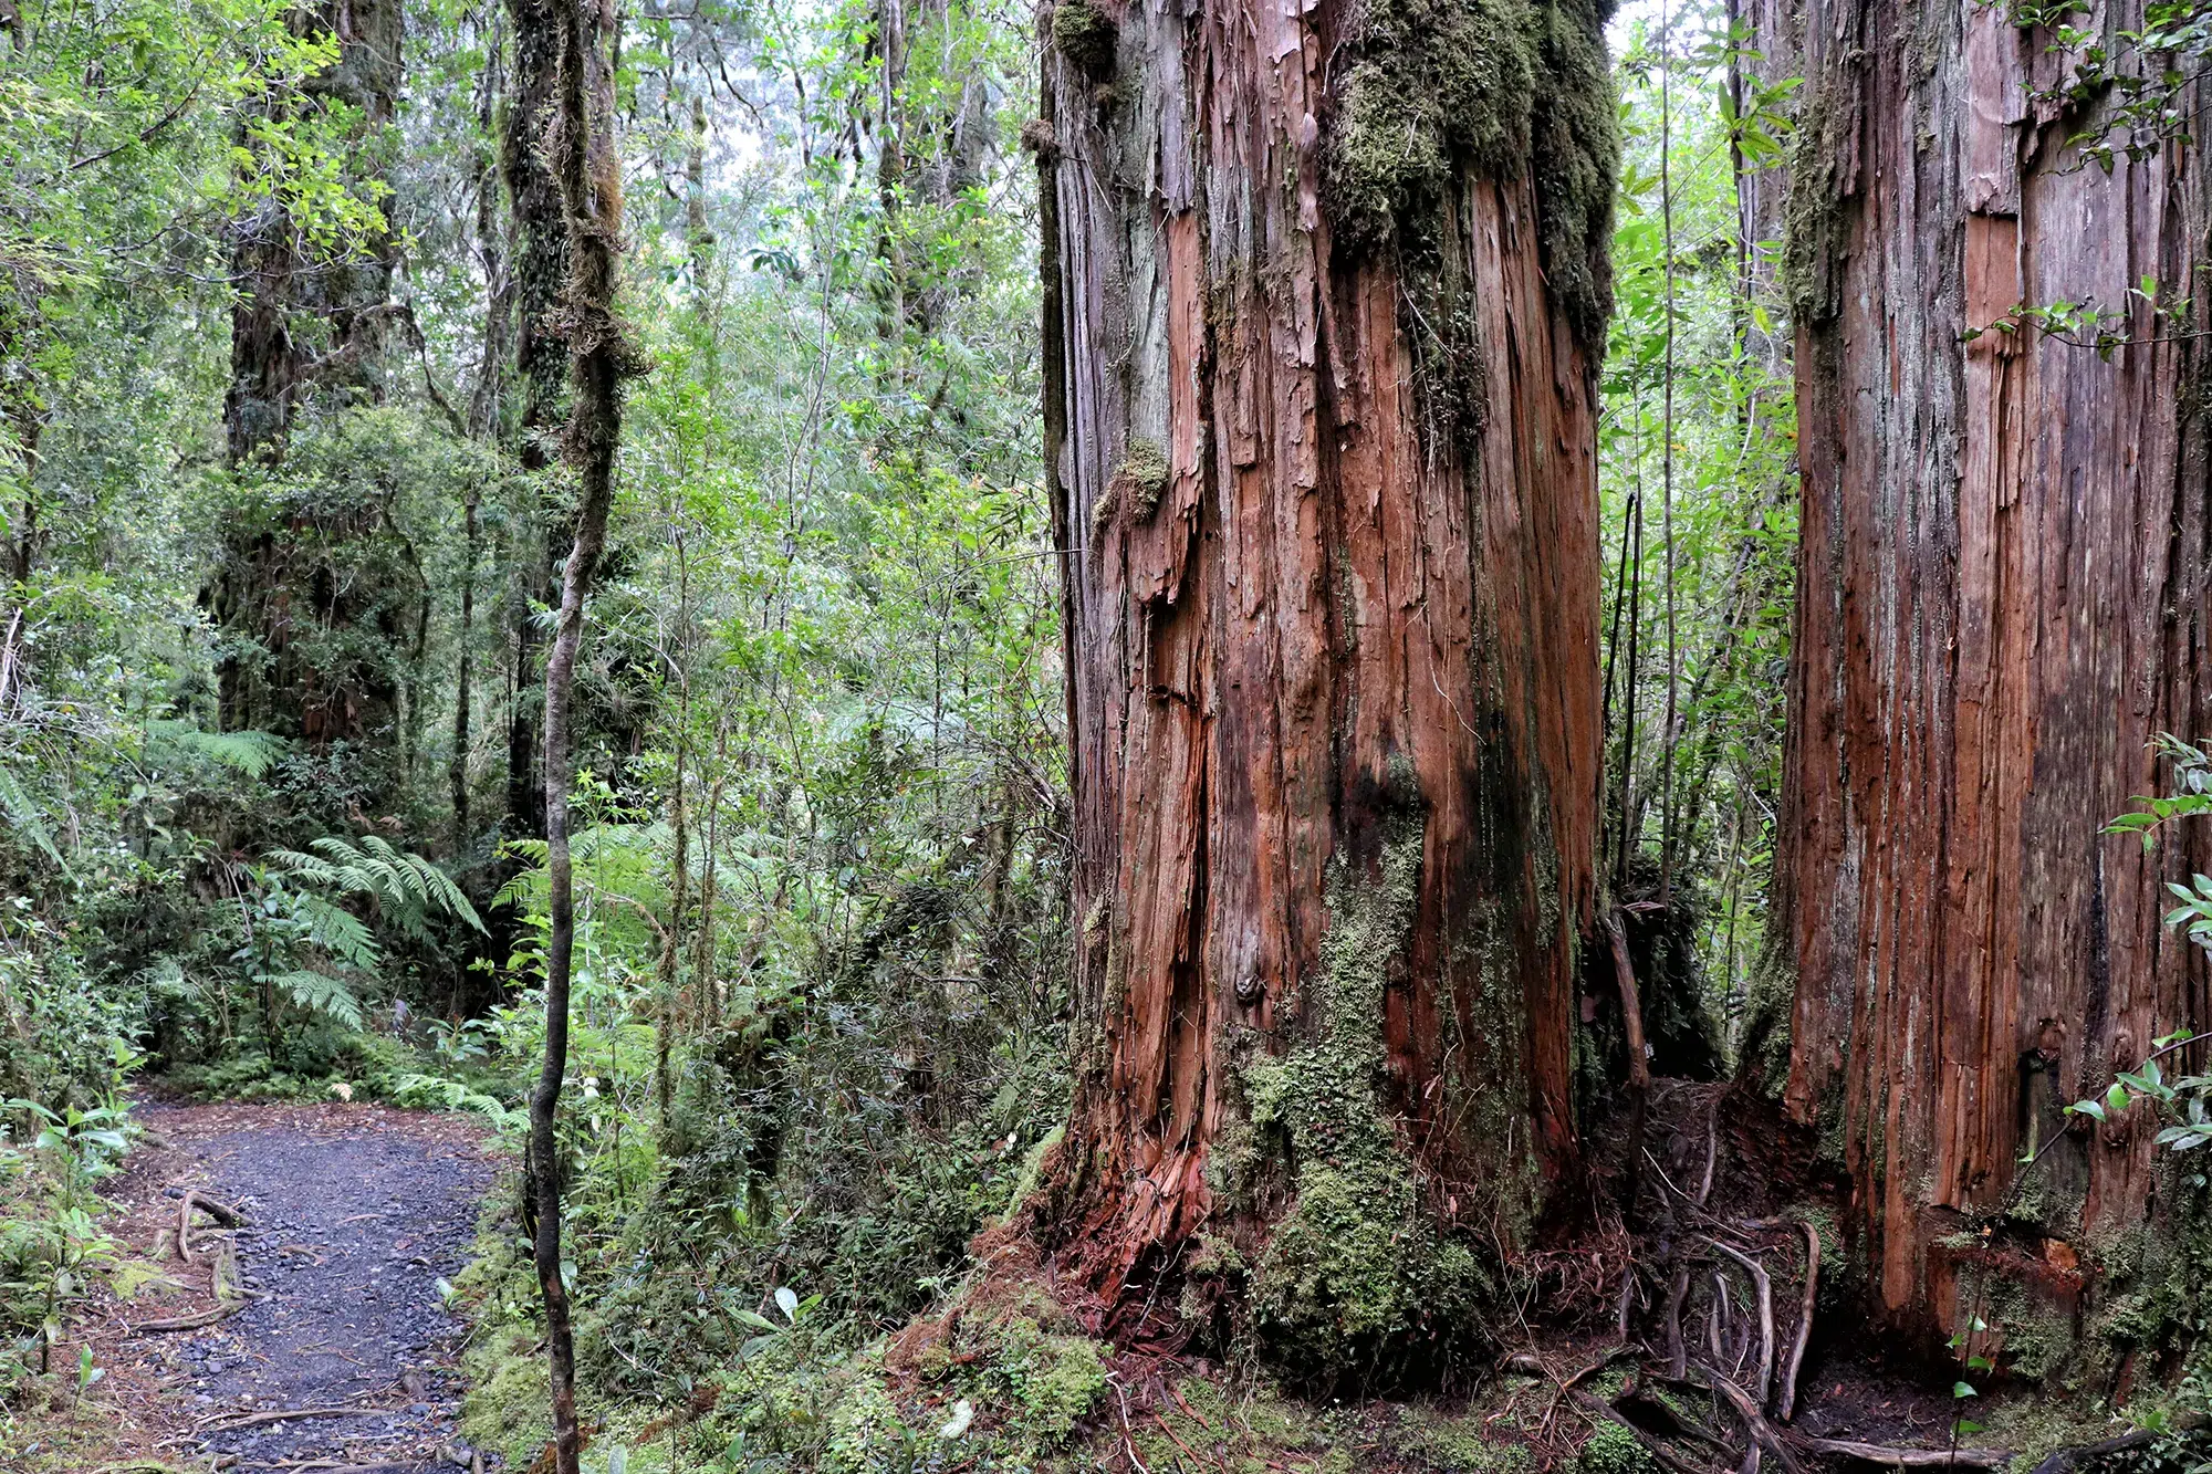
M58 1383L75 1388L86 1346L104 1374L53 1410L31 1470L495 1467L456 1430L465 1328L445 1306L498 1169L476 1122L345 1102L142 1100L133 1115L148 1135L102 1193L133 1293L100 1290L55 1348ZM241 1222L195 1208L186 1264L195 1191Z

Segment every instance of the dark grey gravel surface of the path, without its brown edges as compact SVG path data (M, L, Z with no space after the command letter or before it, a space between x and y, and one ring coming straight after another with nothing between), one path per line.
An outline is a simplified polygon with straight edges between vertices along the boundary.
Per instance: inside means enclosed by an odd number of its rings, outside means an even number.
M234 1474L498 1467L456 1428L462 1326L440 1286L495 1171L471 1122L341 1104L150 1104L137 1120L168 1144L168 1211L199 1186L246 1215L237 1262L261 1295L204 1330L139 1339L159 1341L164 1401L184 1403L164 1419L184 1428L179 1452ZM206 1262L221 1235L199 1222Z

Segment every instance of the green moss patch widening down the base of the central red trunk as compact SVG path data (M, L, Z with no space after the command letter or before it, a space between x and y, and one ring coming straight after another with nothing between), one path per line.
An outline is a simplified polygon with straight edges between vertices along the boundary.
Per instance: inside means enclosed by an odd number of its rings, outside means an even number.
M1402 777L1402 781L1398 781ZM1422 819L1411 772L1396 775L1380 874L1338 857L1329 934L1310 1007L1316 1031L1281 1060L1248 1067L1252 1124L1287 1138L1290 1213L1252 1275L1254 1328L1301 1377L1371 1366L1409 1339L1455 1339L1495 1293L1473 1250L1422 1206L1413 1164L1383 1109L1383 996L1420 903Z

